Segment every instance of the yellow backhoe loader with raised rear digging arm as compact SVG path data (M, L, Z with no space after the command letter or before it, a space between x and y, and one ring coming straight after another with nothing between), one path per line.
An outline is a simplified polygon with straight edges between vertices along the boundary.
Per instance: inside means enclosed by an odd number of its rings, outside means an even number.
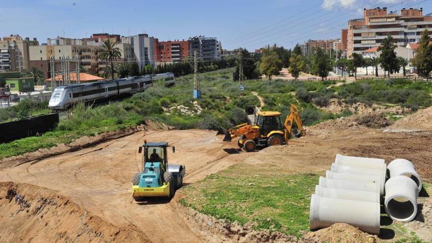
M285 118L284 123L280 120L280 114L278 111L258 111L255 113L254 125L243 123L231 129L219 128L217 135L224 134L223 141L231 141L235 137L240 137L238 145L246 152L254 151L257 146L283 145L291 136L306 135L295 105L291 105L290 114ZM293 123L297 125L295 134L292 134Z

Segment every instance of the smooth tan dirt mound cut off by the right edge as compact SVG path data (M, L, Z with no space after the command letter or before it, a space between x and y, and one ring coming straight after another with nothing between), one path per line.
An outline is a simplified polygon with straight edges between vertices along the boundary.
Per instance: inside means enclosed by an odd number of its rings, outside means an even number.
M419 110L395 122L392 129L432 130L432 107Z

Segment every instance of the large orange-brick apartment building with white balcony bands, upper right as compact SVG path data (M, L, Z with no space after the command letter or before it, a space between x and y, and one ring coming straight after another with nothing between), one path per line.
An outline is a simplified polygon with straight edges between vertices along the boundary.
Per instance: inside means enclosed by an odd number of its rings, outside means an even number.
M363 18L348 22L347 54L361 54L365 50L378 47L388 34L393 37L397 46L406 46L418 42L425 28L429 29L432 36L432 16L423 16L423 8L403 8L399 14L392 11L387 13L385 7L365 8Z

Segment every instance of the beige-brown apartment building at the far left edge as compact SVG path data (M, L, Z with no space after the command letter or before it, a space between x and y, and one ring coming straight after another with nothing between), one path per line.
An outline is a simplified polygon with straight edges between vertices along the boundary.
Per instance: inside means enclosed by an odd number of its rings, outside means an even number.
M29 67L30 46L38 45L36 38L23 39L19 35L10 35L0 39L0 72L22 72Z

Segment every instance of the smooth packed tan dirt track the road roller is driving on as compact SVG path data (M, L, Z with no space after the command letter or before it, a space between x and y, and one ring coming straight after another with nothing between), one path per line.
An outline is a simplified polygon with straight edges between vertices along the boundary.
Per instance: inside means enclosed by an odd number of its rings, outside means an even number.
M247 157L246 153L232 149L232 144L216 138L213 131L139 132L77 152L2 169L0 181L58 190L118 228L136 226L155 243L201 242L178 216L174 200L133 201L131 180L140 170L137 147L144 138L176 146L175 154L169 152L169 162L186 165L186 184Z

